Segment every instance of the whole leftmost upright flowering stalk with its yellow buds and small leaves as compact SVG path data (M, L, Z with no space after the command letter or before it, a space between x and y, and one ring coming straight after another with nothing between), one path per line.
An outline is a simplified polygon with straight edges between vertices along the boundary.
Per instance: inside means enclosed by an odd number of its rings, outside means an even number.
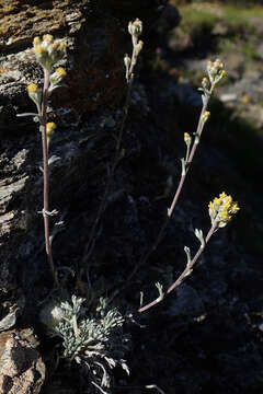
M36 114L20 114L18 116L33 116L39 123L39 131L42 135L42 149L43 149L43 176L44 176L44 206L41 211L44 219L45 228L45 246L46 255L53 274L55 285L58 286L57 271L53 260L52 244L49 236L49 217L57 215L56 210L49 210L49 166L48 166L48 148L54 130L56 129L55 123L47 121L47 101L52 92L60 86L60 82L66 76L62 67L53 68L56 62L62 59L66 51L66 45L62 40L54 40L50 34L43 36L43 39L35 37L33 40L34 53L36 60L44 71L44 85L39 88L36 83L31 83L27 86L30 99L35 103Z

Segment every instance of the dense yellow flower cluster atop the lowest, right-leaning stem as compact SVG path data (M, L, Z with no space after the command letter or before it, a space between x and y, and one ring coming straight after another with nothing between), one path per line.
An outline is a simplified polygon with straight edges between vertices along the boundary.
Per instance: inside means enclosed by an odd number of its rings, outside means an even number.
M238 202L232 200L231 196L221 193L219 198L214 198L208 205L211 224L217 228L225 227L232 218L232 215L239 211Z

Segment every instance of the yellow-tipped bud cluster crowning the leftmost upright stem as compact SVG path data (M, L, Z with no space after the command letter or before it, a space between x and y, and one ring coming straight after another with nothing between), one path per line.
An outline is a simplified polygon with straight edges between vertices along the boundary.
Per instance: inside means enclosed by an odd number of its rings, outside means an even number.
M45 34L43 39L35 37L33 45L37 61L48 71L65 56L65 43L54 40L50 34Z

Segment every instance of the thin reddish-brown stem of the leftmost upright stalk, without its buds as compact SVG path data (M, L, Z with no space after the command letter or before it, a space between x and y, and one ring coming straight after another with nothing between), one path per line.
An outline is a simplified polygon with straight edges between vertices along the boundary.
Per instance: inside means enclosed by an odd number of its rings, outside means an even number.
M45 246L48 264L53 274L55 285L58 286L57 271L53 262L52 245L49 239L49 169L48 169L48 147L47 147L47 135L46 135L46 123L47 123L47 94L49 86L50 72L44 68L44 88L41 106L41 119L42 124L39 127L42 134L42 149L43 149L43 176L44 176L44 192L43 192L43 218L45 228Z

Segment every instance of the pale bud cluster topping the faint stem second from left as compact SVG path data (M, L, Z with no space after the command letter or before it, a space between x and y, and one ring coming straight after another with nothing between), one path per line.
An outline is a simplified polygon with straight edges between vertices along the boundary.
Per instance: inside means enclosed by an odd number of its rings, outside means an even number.
M126 70L126 80L127 82L130 81L133 76L134 67L137 62L137 57L144 47L142 40L138 40L139 36L142 33L142 22L137 18L134 22L129 22L128 24L128 32L132 35L133 42L133 56L130 57L126 54L124 57L124 66Z

